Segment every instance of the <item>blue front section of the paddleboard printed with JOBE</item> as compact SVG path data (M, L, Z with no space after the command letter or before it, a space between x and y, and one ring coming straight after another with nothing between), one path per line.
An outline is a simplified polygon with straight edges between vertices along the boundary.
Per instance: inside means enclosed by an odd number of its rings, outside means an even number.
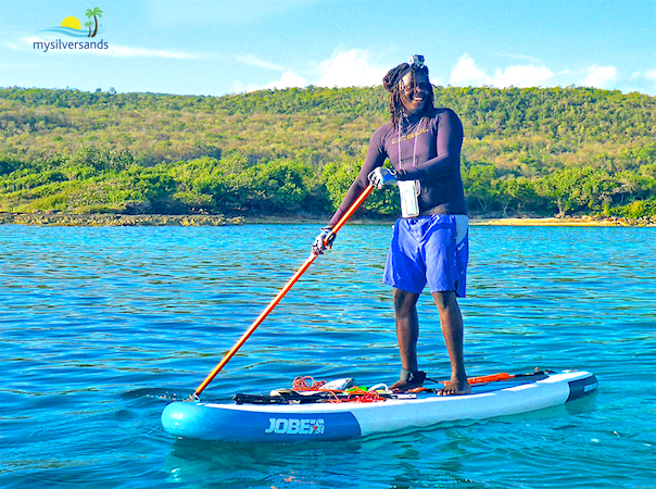
M166 431L180 437L226 441L292 442L361 436L359 424L349 412L267 413L189 402L166 406L162 424Z

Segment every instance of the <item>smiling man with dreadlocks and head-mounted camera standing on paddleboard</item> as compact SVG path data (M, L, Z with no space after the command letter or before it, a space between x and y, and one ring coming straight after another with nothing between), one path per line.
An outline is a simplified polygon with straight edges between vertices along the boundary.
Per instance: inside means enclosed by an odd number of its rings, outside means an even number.
M357 178L312 250L318 254L331 248L332 227L369 184L378 189L398 185L402 217L394 225L382 278L393 287L402 364L401 378L391 389L405 391L426 379L417 363L417 300L428 284L452 369L451 383L440 393L467 393L471 388L465 372L463 316L456 300L465 297L469 251L461 176L463 125L452 110L433 106L424 57L414 55L409 63L390 70L382 83L390 92L391 121L374 133ZM393 170L382 167L388 159Z

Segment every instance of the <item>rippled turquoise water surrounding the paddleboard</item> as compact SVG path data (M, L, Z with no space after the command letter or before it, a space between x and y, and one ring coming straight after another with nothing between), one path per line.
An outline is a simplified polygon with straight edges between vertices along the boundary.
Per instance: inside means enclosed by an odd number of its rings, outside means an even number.
M2 488L647 488L656 474L655 228L472 227L470 375L586 369L550 410L364 440L177 440L191 393L302 264L318 226L0 226ZM391 227L346 226L203 393L398 377ZM449 362L430 296L420 366Z

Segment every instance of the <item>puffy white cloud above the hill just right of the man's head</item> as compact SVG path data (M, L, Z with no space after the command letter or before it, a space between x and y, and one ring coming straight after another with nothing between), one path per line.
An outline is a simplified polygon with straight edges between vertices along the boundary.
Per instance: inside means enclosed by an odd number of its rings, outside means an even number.
M494 76L480 68L469 54L464 54L451 72L450 83L456 86L490 85L493 87L540 87L554 78L546 66L515 65L496 68Z

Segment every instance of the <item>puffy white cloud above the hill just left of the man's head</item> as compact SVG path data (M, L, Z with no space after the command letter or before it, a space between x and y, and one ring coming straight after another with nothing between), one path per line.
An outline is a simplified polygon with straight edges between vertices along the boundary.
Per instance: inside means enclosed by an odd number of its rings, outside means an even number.
M365 50L336 51L319 64L319 87L369 87L380 85L387 70L374 66Z

